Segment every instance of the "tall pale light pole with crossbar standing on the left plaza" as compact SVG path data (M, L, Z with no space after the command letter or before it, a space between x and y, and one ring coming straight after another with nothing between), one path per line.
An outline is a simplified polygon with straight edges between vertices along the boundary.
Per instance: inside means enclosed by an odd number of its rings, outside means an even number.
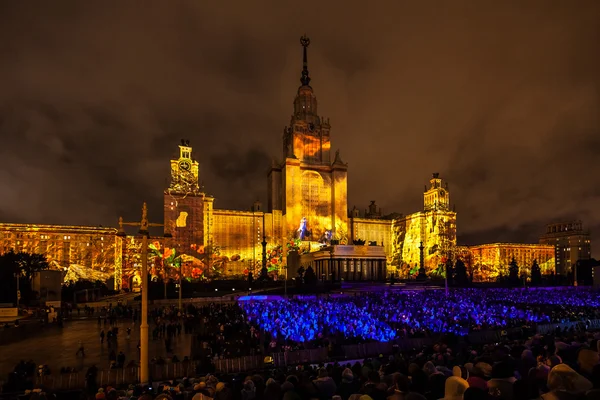
M139 227L139 234L142 235L142 321L140 324L140 383L148 383L148 237L151 226L163 226L163 224L154 224L148 222L148 207L144 202L142 206L142 220L140 222L123 222L123 217L119 218L119 236L126 236L123 225ZM165 237L171 236L165 234Z

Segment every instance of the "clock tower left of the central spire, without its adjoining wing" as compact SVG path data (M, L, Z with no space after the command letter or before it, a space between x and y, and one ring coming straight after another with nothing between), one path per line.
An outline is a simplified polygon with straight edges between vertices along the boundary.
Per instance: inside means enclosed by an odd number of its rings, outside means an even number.
M200 187L198 171L190 141L182 140L179 157L171 160L171 181L164 191L165 234L172 237L166 243L179 254L193 254L194 247L209 243L214 198Z

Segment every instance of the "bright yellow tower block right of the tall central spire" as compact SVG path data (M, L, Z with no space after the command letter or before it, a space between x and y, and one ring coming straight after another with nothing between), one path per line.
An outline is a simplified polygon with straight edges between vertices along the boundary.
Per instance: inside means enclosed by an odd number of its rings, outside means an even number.
M450 210L448 184L433 174L423 194L423 211L392 224L392 258L400 277L439 273L456 247L456 213Z

